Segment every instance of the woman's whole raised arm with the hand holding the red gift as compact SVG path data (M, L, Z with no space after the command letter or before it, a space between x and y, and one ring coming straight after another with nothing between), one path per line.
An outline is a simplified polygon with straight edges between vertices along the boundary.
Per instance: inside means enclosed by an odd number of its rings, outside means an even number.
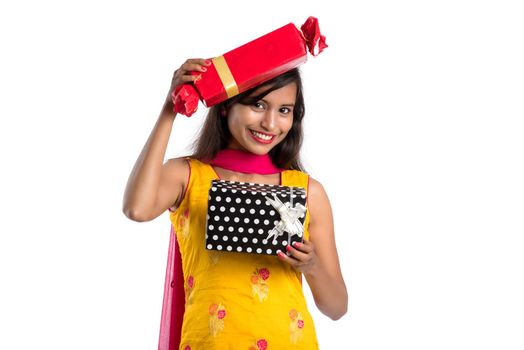
M189 174L187 162L178 158L169 159L163 164L176 116L171 92L178 85L197 79L198 76L190 72L203 71L207 65L204 59L189 59L173 74L160 116L127 181L123 212L131 220L153 220L172 205L178 204L184 193Z

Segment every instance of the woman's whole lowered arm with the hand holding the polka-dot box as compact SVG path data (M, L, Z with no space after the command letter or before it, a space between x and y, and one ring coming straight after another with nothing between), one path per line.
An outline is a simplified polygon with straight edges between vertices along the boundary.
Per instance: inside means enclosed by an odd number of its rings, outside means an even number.
M348 293L338 260L331 205L320 182L312 178L308 207L309 241L289 247L291 256L279 256L304 274L318 309L338 320L347 312Z

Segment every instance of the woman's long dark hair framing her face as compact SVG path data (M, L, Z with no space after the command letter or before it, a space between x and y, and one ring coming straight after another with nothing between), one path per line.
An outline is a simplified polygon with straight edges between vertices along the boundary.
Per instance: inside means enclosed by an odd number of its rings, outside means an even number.
M302 119L305 114L305 106L302 94L302 80L298 68L294 68L209 108L204 125L200 130L198 138L193 143L194 153L191 157L198 160L213 159L218 151L227 148L232 136L227 125L227 118L222 116L222 111L225 110L227 113L234 103L252 105L271 91L291 83L295 83L297 86L297 96L295 107L293 108L293 125L284 140L269 151L269 156L273 163L281 169L304 171L300 162L300 148L303 138ZM255 90L266 86L269 86L269 88L262 89L262 92L253 95Z

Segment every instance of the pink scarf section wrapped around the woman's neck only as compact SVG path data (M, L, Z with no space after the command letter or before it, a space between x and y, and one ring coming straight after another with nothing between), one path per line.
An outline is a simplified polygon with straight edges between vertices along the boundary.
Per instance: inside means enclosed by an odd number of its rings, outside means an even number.
M208 162L212 166L246 174L268 175L283 170L273 164L269 154L258 155L231 148L220 150L215 159Z

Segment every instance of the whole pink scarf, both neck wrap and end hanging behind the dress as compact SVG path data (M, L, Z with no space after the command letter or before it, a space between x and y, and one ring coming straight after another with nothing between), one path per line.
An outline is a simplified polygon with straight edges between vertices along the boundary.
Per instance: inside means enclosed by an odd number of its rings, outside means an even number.
M269 154L258 155L230 148L219 151L214 159L206 160L206 163L247 174L268 175L283 171L273 164ZM171 225L158 350L176 350L180 346L185 311L184 293L182 258Z

